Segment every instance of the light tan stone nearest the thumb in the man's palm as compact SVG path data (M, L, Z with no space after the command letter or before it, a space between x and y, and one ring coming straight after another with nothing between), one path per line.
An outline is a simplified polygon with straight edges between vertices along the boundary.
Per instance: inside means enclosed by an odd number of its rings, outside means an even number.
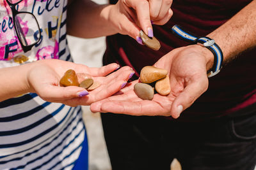
M170 86L169 76L166 76L165 78L162 78L161 80L156 81L155 88L156 88L156 91L163 96L170 94L171 86Z

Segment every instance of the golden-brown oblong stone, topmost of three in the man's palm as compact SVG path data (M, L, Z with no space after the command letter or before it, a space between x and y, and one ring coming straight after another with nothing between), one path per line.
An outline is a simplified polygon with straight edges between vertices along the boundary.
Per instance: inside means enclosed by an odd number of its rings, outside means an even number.
M141 69L140 81L142 83L152 83L164 78L167 73L168 71L166 69L160 69L154 66L145 66Z

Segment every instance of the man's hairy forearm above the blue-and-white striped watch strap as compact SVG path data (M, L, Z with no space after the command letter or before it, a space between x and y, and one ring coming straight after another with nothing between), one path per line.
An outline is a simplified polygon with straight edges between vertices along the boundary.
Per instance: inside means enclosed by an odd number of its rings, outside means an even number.
M234 59L239 53L256 46L255 9L256 1L252 1L225 24L207 35L220 46L224 63ZM212 56L209 60L213 63ZM212 64L209 64L209 67L211 66Z

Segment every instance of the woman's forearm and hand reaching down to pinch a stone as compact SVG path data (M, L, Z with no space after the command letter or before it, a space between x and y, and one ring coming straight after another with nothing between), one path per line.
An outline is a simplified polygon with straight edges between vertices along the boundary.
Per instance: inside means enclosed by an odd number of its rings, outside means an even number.
M150 20L154 24L165 24L172 16L171 4L170 0L120 0L115 5L74 0L68 6L67 32L81 38L119 32L136 39L140 35L140 27L146 33L148 29L152 32Z

